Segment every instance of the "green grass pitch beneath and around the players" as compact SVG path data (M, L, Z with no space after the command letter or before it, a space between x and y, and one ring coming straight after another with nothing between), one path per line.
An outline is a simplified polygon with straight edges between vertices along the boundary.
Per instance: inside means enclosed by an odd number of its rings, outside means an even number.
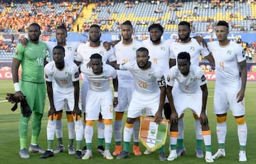
M214 82L208 82L208 119L210 122L210 129L212 132L212 150L213 153L217 151L218 143L215 132L216 118L213 114L213 90ZM196 148L196 136L193 128L193 115L191 111L187 110L185 114L185 131L184 131L184 143L187 153L174 161L160 162L158 152L154 152L151 155L134 156L132 154L132 146L130 151L130 157L124 160L106 160L102 155L97 153L97 131L95 128L94 139L92 141L92 155L89 160L77 160L74 155L68 155L68 131L66 126L65 114L63 114L63 142L65 144L65 152L55 154L53 158L40 159L41 154L30 154L31 158L21 159L18 155L19 151L19 139L18 139L18 121L20 109L17 111L11 111L13 104L6 102L6 92L14 92L13 83L11 80L0 80L0 163L206 163L204 159L198 159L195 156L194 149ZM247 89L245 92L245 109L246 109L246 122L248 127L247 137L247 163L256 163L255 150L256 150L256 82L247 82ZM46 101L46 109L43 116L41 136L39 138L39 144L42 148L47 148L46 141L46 125L47 125L47 109L48 109L48 97ZM126 117L126 115L124 116ZM30 127L28 128L30 129ZM28 133L28 144L30 143L31 131ZM85 144L83 142L83 144ZM132 145L132 144L131 144ZM57 146L57 140L54 141L54 147ZM169 138L166 141L166 155L169 155ZM28 148L28 146L27 146ZM226 137L226 157L215 160L215 163L239 163L238 162L238 133L235 119L232 114L228 113L228 134ZM114 136L112 139L111 152L114 150ZM145 148L141 144L141 151Z

